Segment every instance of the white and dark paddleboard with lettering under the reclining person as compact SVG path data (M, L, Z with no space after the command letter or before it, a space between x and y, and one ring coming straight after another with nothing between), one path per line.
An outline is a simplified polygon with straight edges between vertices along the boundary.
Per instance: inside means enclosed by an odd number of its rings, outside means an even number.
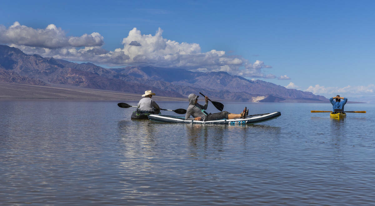
M236 119L222 119L214 121L197 121L197 120L185 120L185 117L176 117L169 115L157 115L150 114L148 118L153 121L165 122L165 123L192 123L192 124L229 124L229 125L239 125L239 124L255 124L264 121L269 121L278 118L281 112L273 112L271 114L262 115L250 115L247 118L236 118Z

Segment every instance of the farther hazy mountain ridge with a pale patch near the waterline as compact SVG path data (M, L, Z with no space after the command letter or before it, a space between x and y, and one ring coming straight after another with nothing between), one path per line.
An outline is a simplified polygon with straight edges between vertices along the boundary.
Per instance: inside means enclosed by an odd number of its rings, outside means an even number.
M321 95L304 92L297 89L287 89L284 86L270 82L252 81L240 76L233 76L226 72L192 72L173 68L158 67L125 67L111 69L120 74L147 79L152 85L153 81L163 80L172 85L188 86L191 88L206 88L220 93L215 97L242 101L267 101L267 102L319 102L327 101ZM177 91L184 94L183 91ZM184 94L187 95L187 94ZM262 98L264 97L264 98Z

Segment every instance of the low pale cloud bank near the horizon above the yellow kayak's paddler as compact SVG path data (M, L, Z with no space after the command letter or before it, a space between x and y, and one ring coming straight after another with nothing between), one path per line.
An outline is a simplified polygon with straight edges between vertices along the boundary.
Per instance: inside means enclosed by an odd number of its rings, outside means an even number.
M375 85L370 84L367 86L344 86L344 87L326 87L326 86L309 86L305 91L312 92L313 94L326 95L328 97L340 95L350 95L357 97L363 94L375 95Z

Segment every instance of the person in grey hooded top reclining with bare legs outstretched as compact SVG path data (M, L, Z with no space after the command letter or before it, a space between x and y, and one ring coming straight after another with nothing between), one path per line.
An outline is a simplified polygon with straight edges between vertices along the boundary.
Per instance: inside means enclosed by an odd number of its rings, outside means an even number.
M202 106L198 104L198 97L195 94L189 94L189 106L186 110L185 120L198 120L198 121L212 121L222 119L233 119L233 118L245 118L249 114L249 110L245 109L241 114L231 114L227 111L217 112L214 114L208 114L205 109L208 106L208 97L205 96L205 104ZM192 118L190 117L193 116Z

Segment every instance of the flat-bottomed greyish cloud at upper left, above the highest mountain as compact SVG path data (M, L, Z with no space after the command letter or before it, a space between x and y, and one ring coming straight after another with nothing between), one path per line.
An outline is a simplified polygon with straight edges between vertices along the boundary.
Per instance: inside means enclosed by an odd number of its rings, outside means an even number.
M18 23L18 21L13 23L8 29L0 25L1 44L57 49L63 47L101 46L104 44L103 39L103 36L96 32L78 37L66 36L65 32L54 24L49 24L45 29L27 27Z

